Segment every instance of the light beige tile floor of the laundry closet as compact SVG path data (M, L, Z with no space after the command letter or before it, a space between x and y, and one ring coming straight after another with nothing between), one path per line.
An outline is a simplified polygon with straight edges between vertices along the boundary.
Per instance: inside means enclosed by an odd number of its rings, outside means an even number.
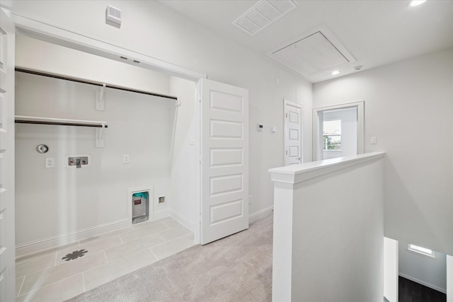
M193 245L193 233L167 217L21 257L16 301L64 301ZM84 256L65 261L83 249Z

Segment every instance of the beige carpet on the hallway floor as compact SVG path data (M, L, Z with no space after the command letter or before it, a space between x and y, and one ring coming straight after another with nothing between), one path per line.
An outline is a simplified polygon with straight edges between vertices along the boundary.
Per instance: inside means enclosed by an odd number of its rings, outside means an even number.
M271 301L273 216L69 301Z

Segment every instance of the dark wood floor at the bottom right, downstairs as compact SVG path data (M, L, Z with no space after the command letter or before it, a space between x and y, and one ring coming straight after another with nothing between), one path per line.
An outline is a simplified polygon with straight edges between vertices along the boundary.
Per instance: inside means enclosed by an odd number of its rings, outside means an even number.
M399 302L447 302L447 295L403 277L398 278Z

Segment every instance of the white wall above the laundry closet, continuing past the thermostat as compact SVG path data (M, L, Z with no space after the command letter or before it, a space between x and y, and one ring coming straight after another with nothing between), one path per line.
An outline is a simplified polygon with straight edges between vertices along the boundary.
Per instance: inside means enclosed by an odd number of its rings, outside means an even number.
M122 10L120 29L105 24L107 4ZM264 54L235 45L157 1L2 1L1 5L74 33L205 71L214 81L247 88L251 214L273 205L267 171L284 164L283 98L304 106L304 160L310 161L311 83ZM264 124L264 132L253 127L258 122ZM272 125L277 126L275 134L270 132Z

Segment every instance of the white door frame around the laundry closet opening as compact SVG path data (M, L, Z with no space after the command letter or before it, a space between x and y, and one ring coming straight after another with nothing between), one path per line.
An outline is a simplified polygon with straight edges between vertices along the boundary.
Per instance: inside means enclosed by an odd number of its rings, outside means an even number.
M28 35L29 37L33 37L37 40L42 40L45 42L50 42L55 45L68 47L74 50L79 50L81 52L86 52L89 54L95 54L99 57L104 57L106 59L113 59L118 62L131 64L133 66L142 67L144 69L150 69L152 71L158 71L164 74L168 74L170 76L177 76L181 79L186 79L189 81L195 82L195 84L200 79L207 79L207 74L204 71L197 71L195 69L189 69L184 66L180 66L177 64L173 64L171 62L166 62L161 59L157 59L154 57L149 57L145 54L140 54L138 52L134 52L132 50L127 50L125 48L108 44L106 42L102 42L100 40L95 40L91 37L86 37L84 35L79 35L77 33L70 32L68 30L64 30L62 28L57 28L52 25L48 25L42 23L40 21L36 21L32 18L27 18L24 16L20 16L13 11L10 11L6 8L3 8L4 11L8 13L8 16L13 21L14 25L16 26L16 33ZM123 58L127 58L126 60ZM136 62L134 62L136 61ZM139 62L139 63L137 63ZM195 85L197 87L197 85ZM198 90L198 87L196 88ZM200 95L200 91L196 91L197 95ZM198 99L200 100L200 98ZM199 102L197 102L199 106ZM195 115L199 115L199 110L195 110ZM14 119L14 117L12 117ZM195 117L199 121L199 117ZM197 153L201 153L201 142L200 142L200 123L196 125L198 127L197 131ZM200 159L200 158L197 158ZM200 164L198 164L200 165ZM195 176L195 175L194 175ZM194 204L194 211L195 211L195 221L193 223L193 233L194 233L194 240L195 243L200 243L200 235L201 235L201 228L200 228L200 203L201 203L201 172L200 168L197 169L197 188L195 202Z

